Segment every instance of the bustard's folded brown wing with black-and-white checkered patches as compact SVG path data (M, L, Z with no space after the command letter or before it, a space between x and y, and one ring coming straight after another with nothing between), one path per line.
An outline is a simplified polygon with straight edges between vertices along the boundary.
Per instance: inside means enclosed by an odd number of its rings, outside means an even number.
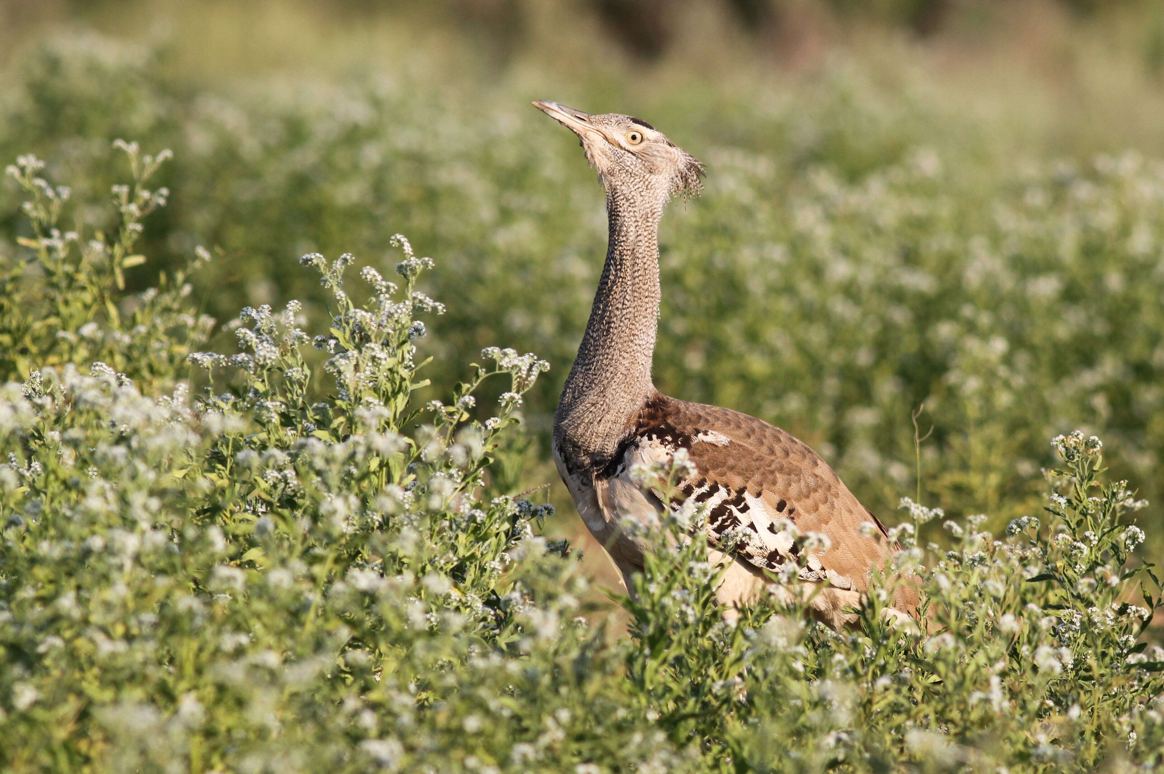
M803 580L828 578L865 591L870 570L883 567L892 551L885 526L832 468L785 431L738 411L656 395L603 473L624 478L631 466L666 459L680 448L687 449L696 473L680 482L677 498L694 498L707 509L712 541L733 530L737 558L766 569L796 560L796 546L778 526L789 519L801 533L823 533L830 542L828 551L805 558ZM863 531L865 523L878 528ZM895 606L916 606L911 587L897 596Z

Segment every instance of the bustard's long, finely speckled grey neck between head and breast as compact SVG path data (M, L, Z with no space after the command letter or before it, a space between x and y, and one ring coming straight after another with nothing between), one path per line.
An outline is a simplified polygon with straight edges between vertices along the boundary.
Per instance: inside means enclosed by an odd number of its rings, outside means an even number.
M662 206L661 198L606 194L606 263L554 417L554 438L574 464L609 460L654 392Z

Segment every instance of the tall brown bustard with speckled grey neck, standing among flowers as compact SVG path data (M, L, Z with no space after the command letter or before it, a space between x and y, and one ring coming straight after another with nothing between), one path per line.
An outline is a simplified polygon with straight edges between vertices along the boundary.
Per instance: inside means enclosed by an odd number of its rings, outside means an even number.
M693 499L705 514L709 559L724 568L716 598L725 611L738 615L771 588L786 601L801 594L811 616L832 629L854 625L871 573L900 548L886 526L789 433L731 409L668 397L652 381L659 223L668 200L700 193L703 164L640 119L549 100L533 105L577 135L606 194L605 263L554 414L552 443L587 528L633 595L632 576L651 551L636 527L656 524L665 509ZM676 454L687 455L689 475L665 504L636 469ZM796 532L823 538L809 547L794 541ZM789 568L792 584L769 584L766 573ZM916 584L904 582L886 609L890 618L906 618L917 605Z

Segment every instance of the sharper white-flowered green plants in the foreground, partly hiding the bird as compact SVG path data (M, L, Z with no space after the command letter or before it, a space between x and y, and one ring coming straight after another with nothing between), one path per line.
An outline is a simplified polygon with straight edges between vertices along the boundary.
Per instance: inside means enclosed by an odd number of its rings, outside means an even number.
M239 354L191 352L206 325L178 278L119 292L165 198L146 187L164 156L120 144L134 182L114 190L112 237L61 234L68 192L31 156L9 170L36 236L9 267L2 333L54 365L0 396L6 769L1164 765L1164 649L1141 637L1164 602L1129 563L1144 533L1122 517L1143 503L1099 478L1095 438L1055 439L1066 468L1045 526L1027 516L995 539L985 517L946 521L952 549L931 568L915 535L942 514L906 500L883 577L924 585L924 625L885 623L880 583L850 633L774 601L729 624L705 541L677 539L704 518L691 505L659 525L638 597L620 599L631 638L612 641L580 616L576 552L537 534L553 509L508 491L505 428L548 364L489 348L495 365L420 404L417 317L445 308L416 290L433 262L399 236L403 286L365 267L362 305L350 255L304 256L331 296L314 339L292 301L243 310ZM68 320L73 289L107 303L76 336L36 335L21 310ZM128 372L74 362L146 331ZM311 346L331 355L325 400ZM207 372L193 398L186 353ZM478 421L475 392L497 375L509 389ZM640 475L666 492L682 464Z

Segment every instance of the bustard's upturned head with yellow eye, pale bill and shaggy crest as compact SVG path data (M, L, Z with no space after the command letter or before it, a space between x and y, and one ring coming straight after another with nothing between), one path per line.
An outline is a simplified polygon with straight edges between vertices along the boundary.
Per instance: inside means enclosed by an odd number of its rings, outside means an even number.
M547 100L533 106L579 136L608 192L662 200L700 192L703 164L646 121L618 113L591 115Z

